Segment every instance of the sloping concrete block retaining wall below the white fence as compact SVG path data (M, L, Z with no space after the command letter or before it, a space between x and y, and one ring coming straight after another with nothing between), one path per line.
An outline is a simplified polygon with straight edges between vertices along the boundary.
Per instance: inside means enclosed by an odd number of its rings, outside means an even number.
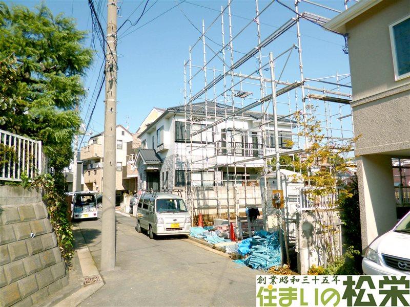
M40 190L0 186L0 306L31 306L67 284Z

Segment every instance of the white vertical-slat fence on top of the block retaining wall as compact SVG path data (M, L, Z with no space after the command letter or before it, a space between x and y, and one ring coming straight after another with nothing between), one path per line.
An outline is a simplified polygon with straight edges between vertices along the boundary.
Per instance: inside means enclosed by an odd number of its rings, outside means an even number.
M0 129L0 180L22 181L25 173L33 179L42 172L42 142Z

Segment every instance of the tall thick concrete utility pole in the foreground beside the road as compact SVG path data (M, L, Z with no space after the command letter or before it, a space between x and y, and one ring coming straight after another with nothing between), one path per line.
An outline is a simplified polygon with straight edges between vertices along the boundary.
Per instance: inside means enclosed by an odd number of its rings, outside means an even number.
M117 124L117 0L108 0L104 122L103 227L101 270L115 268L115 142Z

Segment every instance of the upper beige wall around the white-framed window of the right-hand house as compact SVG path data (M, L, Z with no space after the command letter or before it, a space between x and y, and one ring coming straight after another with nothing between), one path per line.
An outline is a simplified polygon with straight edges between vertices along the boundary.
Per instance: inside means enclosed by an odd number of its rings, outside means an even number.
M406 84L395 81L388 25L410 13L408 0L382 1L346 24L353 100Z

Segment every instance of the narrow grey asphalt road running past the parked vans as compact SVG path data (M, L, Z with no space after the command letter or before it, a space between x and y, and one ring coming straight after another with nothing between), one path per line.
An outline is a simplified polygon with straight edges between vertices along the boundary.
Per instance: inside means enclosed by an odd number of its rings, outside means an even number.
M101 221L78 223L100 269ZM116 214L116 268L81 306L254 306L260 272L184 238L151 240Z

